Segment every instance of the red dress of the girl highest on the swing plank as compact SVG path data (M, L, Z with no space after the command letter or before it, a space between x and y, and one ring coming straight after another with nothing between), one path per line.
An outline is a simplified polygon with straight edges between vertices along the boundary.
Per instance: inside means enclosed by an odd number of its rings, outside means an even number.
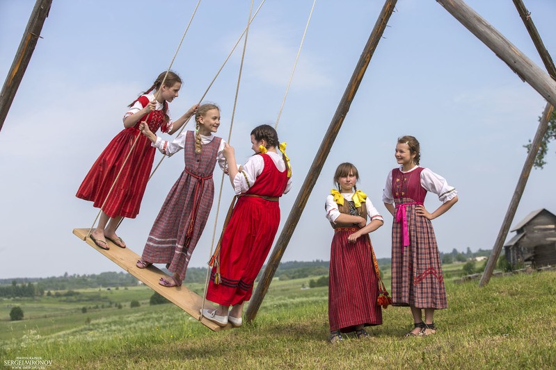
M145 95L139 97L138 101L143 108L149 103ZM164 104L168 103L165 101ZM93 207L102 207L109 217L122 216L134 219L139 213L156 151L150 145L150 140L138 130L139 124L145 118L148 118L147 124L153 133L156 133L161 126L163 131L166 130L162 110L153 110L150 114L141 117L134 127L124 128L102 151L77 190L77 198L92 201ZM122 169L122 164L137 136L139 139ZM122 173L108 196L120 169Z

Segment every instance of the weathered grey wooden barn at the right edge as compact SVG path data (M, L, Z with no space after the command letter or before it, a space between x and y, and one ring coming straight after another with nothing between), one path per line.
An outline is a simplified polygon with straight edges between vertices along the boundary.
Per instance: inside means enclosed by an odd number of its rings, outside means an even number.
M514 266L531 262L535 267L556 265L556 215L541 208L531 212L510 231L516 235L504 245Z

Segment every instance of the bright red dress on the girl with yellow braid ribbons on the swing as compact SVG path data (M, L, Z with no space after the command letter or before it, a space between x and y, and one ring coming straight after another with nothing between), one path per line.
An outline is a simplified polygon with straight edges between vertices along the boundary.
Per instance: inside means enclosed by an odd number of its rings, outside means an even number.
M255 184L237 201L230 222L224 230L220 250L221 282L214 284L213 267L207 299L221 305L249 301L253 283L267 259L278 225L280 205L260 196L282 196L286 189L287 169L279 171L268 154L262 155L264 169Z

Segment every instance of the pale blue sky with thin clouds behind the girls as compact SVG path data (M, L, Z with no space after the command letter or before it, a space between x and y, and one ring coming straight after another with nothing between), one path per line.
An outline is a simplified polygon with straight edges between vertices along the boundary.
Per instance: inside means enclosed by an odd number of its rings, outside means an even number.
M35 1L0 2L0 75L5 78ZM255 7L258 3L255 3ZM468 5L542 67L511 1ZM556 58L556 3L526 1L548 52ZM0 131L0 278L96 274L120 268L72 235L97 210L74 194L137 94L168 68L196 1L54 1L22 84ZM251 1L202 1L173 69L185 83L170 104L178 117L196 103L246 26ZM249 31L231 144L239 162L251 155L254 126L276 121L312 1L268 0ZM312 159L376 22L382 1L317 1L299 65L280 117L294 169L280 202L287 219ZM459 203L434 220L441 251L491 249L521 173L523 144L537 130L546 101L436 1L399 0L367 69L283 261L328 260L332 230L324 199L335 167L353 162L358 188L383 215L381 192L395 167L397 137L421 142L421 164L459 190ZM241 42L207 94L221 106L218 135L230 130ZM167 137L166 137L167 138ZM533 170L517 224L532 210L556 212L555 149ZM159 161L159 156L155 163ZM119 234L141 254L168 190L183 169L164 160L141 212ZM216 187L221 175L216 174ZM216 228L232 192L224 183ZM191 266L208 260L211 217ZM425 205L440 203L429 194ZM390 256L392 220L372 233L376 255ZM510 234L511 237L512 234Z

